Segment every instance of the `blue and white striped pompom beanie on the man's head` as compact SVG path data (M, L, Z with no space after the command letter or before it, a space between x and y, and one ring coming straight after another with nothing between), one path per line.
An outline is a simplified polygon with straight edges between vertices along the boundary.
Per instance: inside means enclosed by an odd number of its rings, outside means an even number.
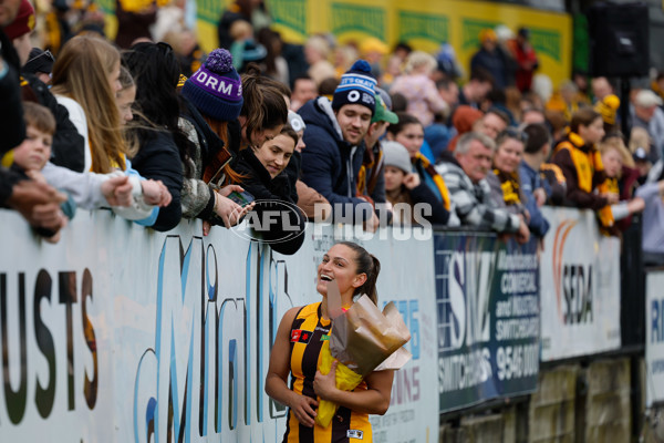
M332 109L338 111L345 104L361 104L375 112L376 79L371 75L371 65L364 60L357 60L351 69L341 76L341 83L334 91Z

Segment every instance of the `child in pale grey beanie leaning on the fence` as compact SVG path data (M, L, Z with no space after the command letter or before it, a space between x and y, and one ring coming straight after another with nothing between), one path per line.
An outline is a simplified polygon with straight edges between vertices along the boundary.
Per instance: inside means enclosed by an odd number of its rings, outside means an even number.
M434 225L446 225L449 212L440 205L434 193L421 181L419 175L412 172L408 151L398 142L384 142L382 147L385 194L392 205L392 224L409 226L426 219ZM408 209L403 204L406 204ZM421 212L417 205L425 210Z

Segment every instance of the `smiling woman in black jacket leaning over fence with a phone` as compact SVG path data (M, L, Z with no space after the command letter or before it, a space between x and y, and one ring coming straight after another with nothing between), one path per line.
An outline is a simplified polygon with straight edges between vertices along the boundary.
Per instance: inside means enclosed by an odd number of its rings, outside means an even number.
M295 206L295 184L284 172L298 141L298 134L287 124L260 146L240 151L235 165L242 177L238 184L250 194L240 196L255 198L253 213L248 216L250 226L273 250L284 255L295 254L304 241L307 217Z

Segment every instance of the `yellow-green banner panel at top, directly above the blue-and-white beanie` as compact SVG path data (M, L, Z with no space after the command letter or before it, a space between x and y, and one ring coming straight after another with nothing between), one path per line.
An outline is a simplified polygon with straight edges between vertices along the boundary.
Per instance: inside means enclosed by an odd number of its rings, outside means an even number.
M385 9L334 2L331 4L330 28L334 34L364 32L385 41Z

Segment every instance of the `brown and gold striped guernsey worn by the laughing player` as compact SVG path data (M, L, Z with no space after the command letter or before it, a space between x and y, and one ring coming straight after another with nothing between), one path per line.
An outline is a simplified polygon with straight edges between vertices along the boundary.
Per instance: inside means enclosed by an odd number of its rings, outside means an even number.
M290 332L291 346L291 389L302 395L320 401L313 391L313 379L320 365L323 340L330 333L330 320L321 318L321 303L308 305L300 309ZM366 389L362 382L356 390ZM352 412L340 406L332 423L326 429L300 425L289 410L284 443L341 443L372 442L371 423L367 414Z

